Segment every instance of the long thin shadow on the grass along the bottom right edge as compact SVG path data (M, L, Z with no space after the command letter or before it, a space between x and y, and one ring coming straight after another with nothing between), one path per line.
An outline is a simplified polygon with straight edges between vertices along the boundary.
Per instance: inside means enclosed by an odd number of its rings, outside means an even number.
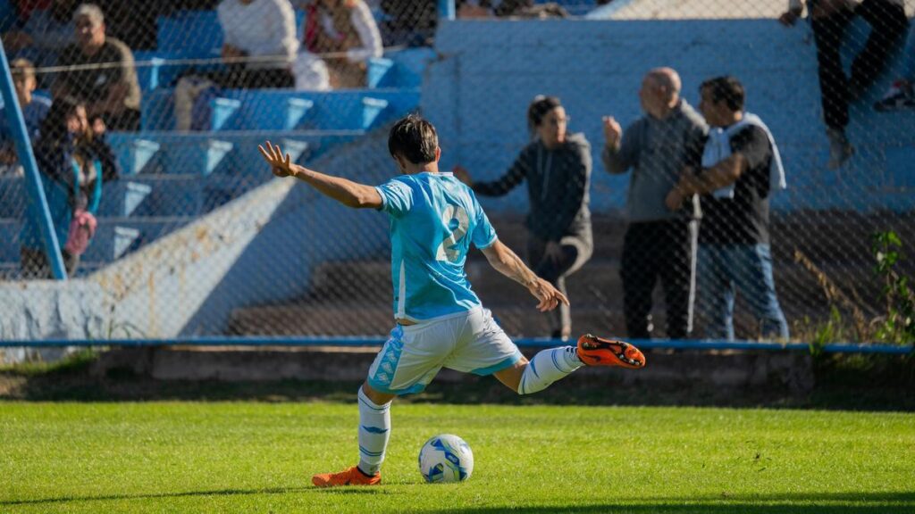
M911 514L915 512L915 492L903 493L822 493L773 495L722 495L718 497L633 498L637 503L608 502L598 505L514 506L460 509L462 514ZM686 502L688 504L684 505ZM454 509L424 510L423 514L454 512Z

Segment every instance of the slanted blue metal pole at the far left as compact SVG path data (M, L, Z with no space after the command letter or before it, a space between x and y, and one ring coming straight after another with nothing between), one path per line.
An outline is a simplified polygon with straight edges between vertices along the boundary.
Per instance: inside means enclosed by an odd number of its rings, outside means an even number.
M6 123L13 133L13 140L16 142L16 155L19 157L22 167L26 170L28 191L26 215L33 220L38 219L38 229L41 231L41 239L44 241L45 253L48 255L48 262L50 262L54 278L67 280L67 272L63 267L63 256L60 255L57 231L54 230L51 213L48 211L48 199L45 198L45 188L41 186L41 177L38 176L38 164L35 162L35 154L32 152L32 142L28 139L26 122L22 117L22 107L19 105L19 99L16 97L13 74L9 69L9 60L6 59L6 50L3 47L2 40L0 40L0 68L3 69L3 80L0 80L0 93L3 94Z

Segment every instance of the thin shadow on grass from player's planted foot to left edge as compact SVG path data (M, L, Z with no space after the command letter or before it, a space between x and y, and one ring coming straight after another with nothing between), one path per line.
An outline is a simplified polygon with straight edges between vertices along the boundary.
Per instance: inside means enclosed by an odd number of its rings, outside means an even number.
M68 496L59 498L36 498L36 499L10 499L0 500L0 508L3 507L26 507L40 505L61 505L70 502L92 502L92 501L118 501L134 499L167 499L167 498L194 498L194 497L232 497L232 496L258 496L258 495L287 495L300 493L325 493L330 489L319 489L317 487L265 487L261 489L212 489L203 491L184 491L178 493L149 493L149 494L113 494L99 496ZM391 491L382 490L380 487L342 487L332 490L334 494L347 495L373 495L373 494L390 494ZM2 510L2 509L0 509Z

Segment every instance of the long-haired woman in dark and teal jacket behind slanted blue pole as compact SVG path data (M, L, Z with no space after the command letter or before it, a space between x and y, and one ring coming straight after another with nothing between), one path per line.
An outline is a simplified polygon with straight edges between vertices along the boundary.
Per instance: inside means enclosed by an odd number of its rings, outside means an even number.
M72 275L95 233L102 183L119 174L104 125L91 127L86 107L70 97L56 99L41 126L35 151L51 220ZM24 278L50 278L48 257L36 220L26 216L19 234Z

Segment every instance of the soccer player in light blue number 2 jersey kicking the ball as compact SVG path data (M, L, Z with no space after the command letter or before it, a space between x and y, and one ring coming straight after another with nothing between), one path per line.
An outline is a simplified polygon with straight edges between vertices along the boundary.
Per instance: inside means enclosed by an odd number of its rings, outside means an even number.
M391 219L396 326L359 391L359 465L315 475L315 486L380 484L391 402L423 391L443 367L494 375L512 391L531 394L582 366L645 365L638 348L591 335L580 337L577 348L544 349L531 361L522 356L470 289L464 273L470 244L492 267L526 287L540 311L568 300L499 241L469 187L438 171L441 149L432 123L409 115L394 124L388 150L403 175L378 187L292 164L269 141L258 148L276 177L296 177L343 205L382 210Z

